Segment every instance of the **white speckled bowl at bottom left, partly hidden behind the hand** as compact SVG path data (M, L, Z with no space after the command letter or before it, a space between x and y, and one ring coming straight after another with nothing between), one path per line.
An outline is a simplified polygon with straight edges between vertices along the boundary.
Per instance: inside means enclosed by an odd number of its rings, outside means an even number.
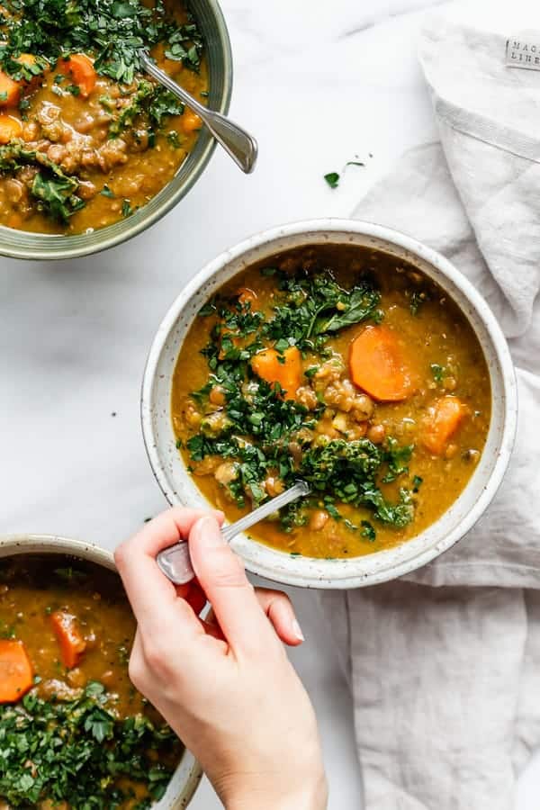
M0 536L0 559L17 554L69 554L110 571L116 571L111 552L97 545L69 540L53 535L6 535ZM202 770L193 754L184 749L166 795L153 805L155 810L184 810L191 802L201 781Z

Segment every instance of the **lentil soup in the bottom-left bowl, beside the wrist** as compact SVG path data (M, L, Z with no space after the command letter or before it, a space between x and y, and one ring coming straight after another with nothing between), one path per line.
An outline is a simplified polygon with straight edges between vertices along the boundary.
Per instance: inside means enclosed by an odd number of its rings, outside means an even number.
M141 810L165 793L182 745L130 683L134 634L113 572L60 554L0 560L2 810Z

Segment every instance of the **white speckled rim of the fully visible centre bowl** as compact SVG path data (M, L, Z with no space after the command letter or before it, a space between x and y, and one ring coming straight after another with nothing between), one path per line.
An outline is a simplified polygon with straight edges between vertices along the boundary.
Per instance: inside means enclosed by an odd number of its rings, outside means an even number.
M379 584L384 581L397 579L398 577L402 577L410 572L416 571L422 566L430 563L432 560L440 556L440 554L444 554L462 537L464 537L473 528L474 524L482 517L483 512L488 508L491 500L499 490L500 483L503 480L509 464L518 425L518 392L516 374L513 361L510 356L509 347L506 338L500 329L500 325L493 315L488 303L483 299L482 295L476 290L466 276L464 276L448 259L433 248L424 245L422 242L419 242L418 239L413 238L408 234L363 220L347 220L338 218L301 220L282 226L277 226L272 229L267 229L252 237L242 240L229 250L223 251L219 257L214 258L206 266L202 267L199 273L193 276L193 279L186 284L184 290L175 298L175 301L166 312L166 316L157 329L156 336L148 353L140 395L140 419L148 460L152 468L152 472L154 473L154 477L156 478L161 491L163 491L166 500L170 504L177 504L181 501L178 499L178 497L175 497L175 492L172 491L169 486L165 467L158 453L157 444L154 440L152 414L152 394L157 377L157 366L162 351L166 346L167 338L173 329L175 329L176 320L178 320L179 316L184 311L186 304L190 302L193 295L197 293L200 288L202 288L203 284L209 282L220 272L221 269L228 266L233 261L240 259L245 254L253 252L256 248L270 246L282 238L301 237L305 235L305 244L312 244L312 239L310 240L310 237L314 234L324 232L329 233L329 244L331 244L332 232L340 234L347 234L347 232L349 232L356 234L357 236L379 239L383 242L392 244L410 254L411 264L414 264L415 258L417 260L419 259L420 262L432 266L436 274L442 275L449 281L450 284L454 285L459 293L461 293L465 300L471 305L473 311L475 311L479 320L482 321L483 327L486 329L494 356L498 362L499 374L497 376L499 377L503 392L503 403L500 406L502 413L502 429L500 432L499 450L497 457L492 464L489 480L487 483L485 483L485 485L482 486L482 490L479 491L473 507L457 522L455 527L451 528L450 531L448 531L446 535L441 537L437 542L429 545L428 548L420 549L414 554L411 553L409 557L405 556L403 559L398 560L395 563L392 563L391 561L388 565L382 565L379 570L374 570L373 572L353 572L355 563L358 563L358 561L365 561L367 558L374 558L379 555L392 555L392 552L395 554L399 549L406 549L407 547L411 549L411 544L414 544L415 541L424 536L427 531L432 529L432 527L436 527L437 524L445 517L449 509L452 509L452 507L447 509L446 512L444 512L440 518L437 518L437 520L430 527L425 529L424 532L421 532L418 536L412 537L410 540L407 540L400 545L374 554L366 554L364 556L350 557L347 559L324 560L305 556L292 558L289 554L279 552L278 550L273 549L271 546L260 544L257 542L257 540L250 538L247 535L238 536L237 539L245 544L246 547L248 544L259 545L264 547L266 550L270 549L271 551L275 552L276 558L274 565L269 563L259 563L257 561L254 562L252 559L246 560L244 558L246 567L250 572L265 577L267 580L277 581L287 585L299 586L303 588L338 590L365 587L368 585ZM300 247L300 245L297 245L296 247ZM379 249L384 248L382 247ZM277 246L275 247L275 252L279 252L279 248ZM268 254L268 256L271 255L271 253ZM251 259L249 264L253 264L256 261L258 261L257 258ZM435 281L437 283L437 278ZM463 306L458 302L456 302L456 304L463 312L464 318L471 323L471 319L464 311ZM476 334L475 329L474 331ZM177 357L178 353L176 353L175 363L177 361ZM494 378L495 375L490 367L491 392L493 389L492 381ZM170 403L166 403L166 408L167 416L170 419ZM491 419L492 416L493 412L491 413ZM185 465L181 458L180 463L185 471ZM469 479L469 482L467 482L465 485L462 494L469 490L469 488L472 486L473 476L474 473ZM196 491L199 491L196 484L194 482L192 483L193 488ZM461 495L459 497L461 498ZM209 503L208 501L206 502ZM210 503L209 507L211 507ZM238 551L238 553L241 555L241 549ZM278 559L280 559L282 564L278 565ZM336 573L339 569L341 569L341 571L339 571L339 575L337 577ZM350 570L350 574L347 573L347 569ZM334 573L334 576L332 576L332 573Z

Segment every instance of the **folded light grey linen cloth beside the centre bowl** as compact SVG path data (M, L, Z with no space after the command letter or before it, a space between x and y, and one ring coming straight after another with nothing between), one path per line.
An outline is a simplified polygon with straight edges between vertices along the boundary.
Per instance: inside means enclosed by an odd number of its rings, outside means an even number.
M540 31L520 37L534 7L510 5L430 15L420 57L441 143L402 157L355 211L471 279L509 338L520 400L509 473L460 544L404 580L321 595L366 810L511 810L540 745L540 71L507 67L531 45L540 57Z

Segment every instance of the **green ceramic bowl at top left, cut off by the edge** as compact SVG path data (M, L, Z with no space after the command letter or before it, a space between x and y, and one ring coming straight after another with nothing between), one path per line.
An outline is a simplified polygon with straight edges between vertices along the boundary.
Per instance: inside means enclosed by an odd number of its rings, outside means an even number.
M232 54L227 26L216 0L191 0L190 8L202 31L208 59L212 110L229 112L232 91ZM119 245L157 222L198 180L211 158L216 141L202 129L193 151L175 177L139 211L107 228L76 236L28 233L0 226L0 255L25 259L63 259L87 256Z

